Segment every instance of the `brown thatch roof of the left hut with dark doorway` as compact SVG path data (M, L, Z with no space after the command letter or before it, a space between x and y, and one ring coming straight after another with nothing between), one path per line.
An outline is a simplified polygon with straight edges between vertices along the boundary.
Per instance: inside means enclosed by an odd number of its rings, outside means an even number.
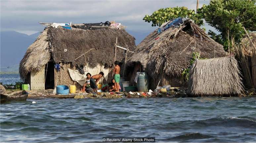
M21 78L31 71L39 71L50 59L55 63L72 62L72 64L84 65L86 61L91 67L98 64L111 67L114 60L114 47L116 37L117 45L129 46L134 50L135 38L124 29L104 28L98 30L83 30L79 28L65 29L62 27L47 27L35 42L27 48L24 58L20 62ZM78 58L81 56L80 58ZM124 59L124 50L117 48L116 60ZM75 60L78 58L77 60Z

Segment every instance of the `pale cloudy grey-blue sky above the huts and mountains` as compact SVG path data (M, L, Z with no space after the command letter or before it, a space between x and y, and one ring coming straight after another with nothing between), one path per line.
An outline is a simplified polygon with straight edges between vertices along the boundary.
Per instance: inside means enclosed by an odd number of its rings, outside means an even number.
M199 1L199 7L209 1ZM0 31L34 34L43 31L39 22L99 23L115 21L136 32L153 31L146 14L166 7L196 9L196 0L179 1L0 1ZM207 31L213 28L205 24ZM215 30L214 30L215 31Z

